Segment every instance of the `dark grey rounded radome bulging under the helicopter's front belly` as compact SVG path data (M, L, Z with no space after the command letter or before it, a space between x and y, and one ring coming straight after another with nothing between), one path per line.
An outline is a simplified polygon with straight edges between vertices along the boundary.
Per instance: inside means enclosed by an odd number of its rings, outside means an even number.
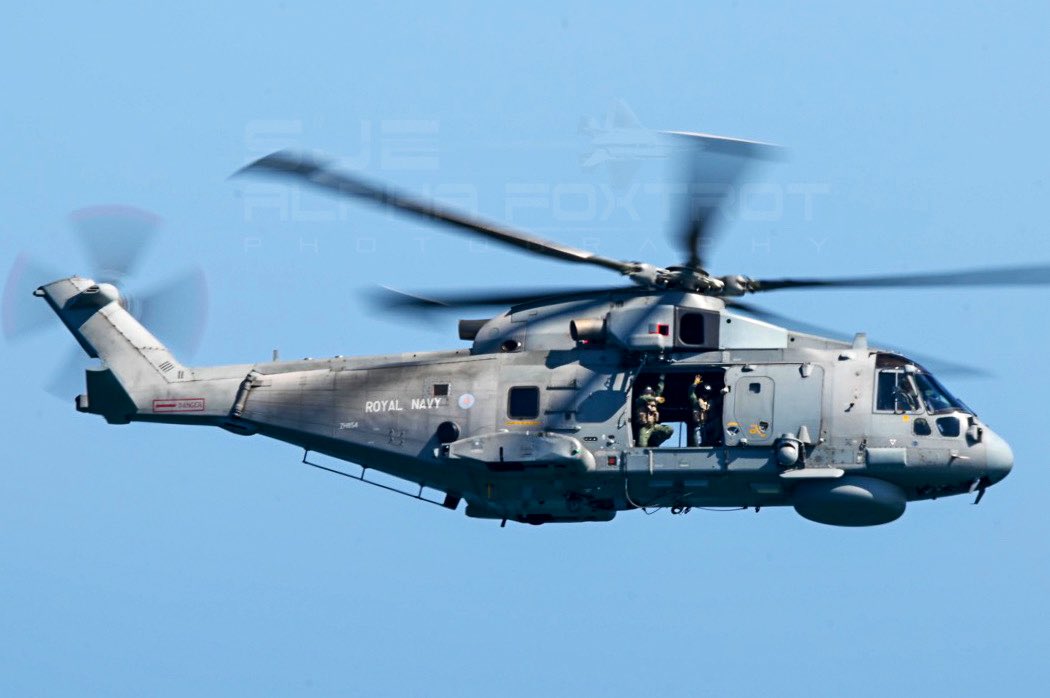
M878 526L900 519L907 496L884 480L846 475L800 484L793 504L800 515L818 524Z

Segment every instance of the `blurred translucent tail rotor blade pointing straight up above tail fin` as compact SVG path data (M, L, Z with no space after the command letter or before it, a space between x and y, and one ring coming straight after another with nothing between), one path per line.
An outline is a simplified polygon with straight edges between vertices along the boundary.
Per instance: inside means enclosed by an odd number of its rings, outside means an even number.
M74 211L69 219L100 281L131 276L156 236L158 215L131 206L93 206Z

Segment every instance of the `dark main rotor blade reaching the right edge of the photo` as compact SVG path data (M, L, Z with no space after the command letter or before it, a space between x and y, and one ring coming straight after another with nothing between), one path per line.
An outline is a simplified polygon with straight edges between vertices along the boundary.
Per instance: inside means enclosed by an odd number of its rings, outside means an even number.
M1050 284L1050 265L971 269L958 272L858 276L838 279L753 279L751 291L785 289L874 289L969 285L1046 285Z

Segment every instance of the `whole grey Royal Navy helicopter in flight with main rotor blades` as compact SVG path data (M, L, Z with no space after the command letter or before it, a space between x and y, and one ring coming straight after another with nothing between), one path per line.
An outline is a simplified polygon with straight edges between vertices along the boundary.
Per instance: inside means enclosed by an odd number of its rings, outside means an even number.
M704 252L726 192L776 147L704 133L668 138L690 149L691 182L724 186L687 197L675 238L685 259L666 268L483 220L312 154L278 151L238 171L626 280L440 297L388 292L391 306L415 312L506 309L460 320L469 345L458 350L190 366L125 309L111 283L72 276L35 295L101 360L85 373L79 411L110 424L269 437L303 449L308 465L450 510L465 502L467 516L503 526L607 522L635 509L782 506L821 524L873 526L900 517L908 502L969 493L979 503L1010 472L1013 453L930 371L869 346L864 334L847 341L781 326L784 318L741 298L784 289L1046 284L1050 266L715 276ZM382 484L373 471L411 485Z

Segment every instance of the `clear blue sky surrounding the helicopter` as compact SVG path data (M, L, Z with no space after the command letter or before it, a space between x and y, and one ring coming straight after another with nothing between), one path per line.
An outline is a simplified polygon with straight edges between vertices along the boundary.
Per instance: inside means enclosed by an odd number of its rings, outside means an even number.
M378 318L358 291L615 279L228 175L318 149L671 263L669 164L611 206L581 168L581 121L616 100L789 149L749 181L717 273L1050 260L1050 10L840 4L10 7L0 261L87 273L68 213L132 205L164 220L139 282L207 274L194 362L457 347L454 318ZM500 529L276 442L106 426L42 389L68 336L4 344L0 693L1031 694L1050 680L1048 294L761 298L993 374L947 382L1010 441L1011 477L869 530L791 509Z

